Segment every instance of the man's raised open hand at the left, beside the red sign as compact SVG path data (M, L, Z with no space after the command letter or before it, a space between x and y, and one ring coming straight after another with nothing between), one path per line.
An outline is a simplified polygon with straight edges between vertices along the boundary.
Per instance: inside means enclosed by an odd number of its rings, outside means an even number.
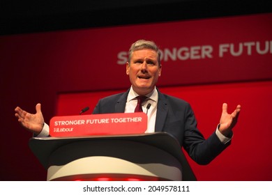
M18 118L19 123L34 134L39 134L43 130L43 124L45 123L40 107L40 103L36 104L36 114L30 114L20 107L15 108L15 116Z

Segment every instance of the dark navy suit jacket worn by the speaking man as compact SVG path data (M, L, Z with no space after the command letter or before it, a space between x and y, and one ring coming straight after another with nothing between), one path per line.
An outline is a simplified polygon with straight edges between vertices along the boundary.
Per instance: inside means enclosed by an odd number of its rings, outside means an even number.
M93 114L122 113L125 111L128 91L99 100ZM213 132L208 139L197 129L197 120L188 102L158 91L155 132L167 132L179 141L197 164L209 164L229 146Z

